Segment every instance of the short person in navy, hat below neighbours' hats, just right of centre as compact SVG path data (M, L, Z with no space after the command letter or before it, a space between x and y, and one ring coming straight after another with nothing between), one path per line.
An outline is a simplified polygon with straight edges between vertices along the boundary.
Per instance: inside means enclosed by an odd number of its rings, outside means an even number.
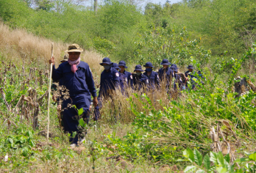
M149 85L149 79L143 75L144 70L142 70L141 65L135 66L135 74L132 74L133 86L136 91L141 91L141 89L146 89Z

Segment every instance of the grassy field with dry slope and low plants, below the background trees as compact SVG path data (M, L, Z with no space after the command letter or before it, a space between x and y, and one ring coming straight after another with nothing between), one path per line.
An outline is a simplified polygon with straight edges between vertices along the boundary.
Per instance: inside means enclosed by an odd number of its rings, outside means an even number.
M240 62L234 65L231 77L213 74L211 66L206 65L207 84L198 81L196 91L173 92L170 97L162 84L157 91L146 94L128 90L129 97L124 97L117 92L113 103L104 101L102 119L90 121L85 144L75 149L69 148L68 135L59 128L57 108L51 100L51 138L47 142L42 130L47 125L51 40L4 24L0 32L4 33L0 35L0 172L183 172L191 165L191 158L186 157L192 155L183 151L209 153L214 144L211 134L217 125L225 137L220 134L216 142L223 148L224 139L229 142L233 152L230 158L247 158L256 151L255 92L248 91L239 98L232 92L233 77L239 73L255 82L255 76L243 74ZM54 43L57 62L67 47ZM253 57L255 48L246 54ZM102 58L93 51L82 54L96 84L103 70L99 66ZM250 59L244 61L241 63L248 64ZM117 114L120 118L113 119ZM226 156L224 159L228 160ZM219 164L211 161L212 169L217 171L225 166L228 171L232 165L230 160L224 163L220 159ZM249 170L246 163L255 166L252 158L244 161L235 163L234 168L243 172ZM197 168L191 172L207 170L199 162L192 162Z

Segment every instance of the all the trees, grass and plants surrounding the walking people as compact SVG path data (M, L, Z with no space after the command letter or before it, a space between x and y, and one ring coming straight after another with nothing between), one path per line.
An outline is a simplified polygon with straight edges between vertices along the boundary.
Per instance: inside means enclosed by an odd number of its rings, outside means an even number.
M13 106L13 111L8 109L1 97L0 171L178 172L188 166L188 162L179 161L182 155L188 156L183 150L196 149L203 155L210 151L210 128L222 125L223 119L230 122L242 143L236 158L255 152L255 93L235 98L232 92L236 76L255 83L255 1L190 0L149 3L142 8L136 1L109 0L103 1L97 12L81 3L0 1L0 88ZM46 98L40 103L40 126L34 129L35 110L30 103L24 101L31 109L26 120L24 106L20 111L15 111L15 106L22 95L31 94L29 88L38 95L46 92L44 72L48 70L51 42L58 62L68 44L85 48L82 59L90 65L97 84L102 71L99 62L104 56L113 62L125 60L129 71L148 61L157 70L164 58L177 64L180 71L192 64L203 70L207 84L171 100L164 88L147 96L129 91L129 99L119 93L115 108L109 100L102 108L103 119L90 123L82 151L68 149L67 136L57 128L57 111L51 104L54 137L47 144L38 135L46 129ZM113 120L115 114L121 114L120 121ZM4 161L6 155L9 158ZM121 155L125 161L105 160L113 155ZM227 162L224 166L216 163L213 169L226 169ZM242 172L247 171L245 165L240 166ZM199 169L204 168L191 170Z

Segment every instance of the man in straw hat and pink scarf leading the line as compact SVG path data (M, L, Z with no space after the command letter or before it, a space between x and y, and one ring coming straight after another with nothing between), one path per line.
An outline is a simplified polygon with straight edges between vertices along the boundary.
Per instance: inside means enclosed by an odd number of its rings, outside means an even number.
M80 54L82 48L79 45L72 44L68 46L68 61L63 62L56 69L54 66L54 57L49 60L53 64L52 79L57 81L61 79L61 84L68 89L69 98L63 100L63 128L65 132L70 133L79 132L77 126L79 125L77 116L77 109L83 108L84 113L82 118L85 122L89 122L90 114L90 95L93 96L93 105L98 105L96 89L94 87L93 75L90 67L86 62L82 62ZM71 105L74 105L76 108ZM77 145L78 136L70 137L71 147Z

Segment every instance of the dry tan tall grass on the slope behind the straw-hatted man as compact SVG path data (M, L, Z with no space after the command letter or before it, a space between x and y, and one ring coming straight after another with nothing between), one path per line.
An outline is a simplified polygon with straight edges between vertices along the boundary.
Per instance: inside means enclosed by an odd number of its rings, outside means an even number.
M29 34L23 29L10 29L4 23L0 23L0 53L11 61L23 62L44 62L51 57L51 43L53 41ZM54 57L56 65L60 64L68 43L54 42ZM103 68L99 65L102 62L102 55L95 51L84 51L81 55L82 61L88 62L93 73L100 75Z

